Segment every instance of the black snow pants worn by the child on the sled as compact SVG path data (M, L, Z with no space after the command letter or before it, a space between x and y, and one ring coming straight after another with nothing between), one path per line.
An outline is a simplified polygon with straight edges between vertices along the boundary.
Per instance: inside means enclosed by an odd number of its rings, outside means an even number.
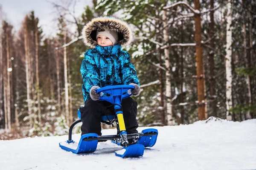
M86 133L97 133L101 136L101 116L105 115L107 109L110 109L113 112L113 115L115 114L114 106L111 105L113 104L107 101L94 101L89 98L85 102L84 107L80 108L82 120L81 135ZM136 130L138 127L136 119L137 102L131 97L128 97L122 99L121 105L127 134L138 133Z

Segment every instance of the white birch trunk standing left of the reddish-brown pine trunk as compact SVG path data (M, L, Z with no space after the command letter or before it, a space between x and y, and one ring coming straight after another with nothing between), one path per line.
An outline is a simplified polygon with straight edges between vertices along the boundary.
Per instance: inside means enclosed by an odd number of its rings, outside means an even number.
M168 43L168 28L166 11L163 11L163 40L164 44ZM172 88L171 88L171 74L170 74L170 62L169 62L170 51L169 48L164 48L165 66L166 66L166 112L167 112L167 125L173 125L172 115Z

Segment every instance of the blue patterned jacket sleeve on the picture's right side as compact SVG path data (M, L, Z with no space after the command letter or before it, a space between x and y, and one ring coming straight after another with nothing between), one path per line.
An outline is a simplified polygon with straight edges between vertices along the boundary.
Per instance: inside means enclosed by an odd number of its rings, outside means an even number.
M123 66L122 66L122 82L124 85L129 85L130 83L135 83L140 85L139 79L137 77L137 72L134 65L131 63L131 57L127 51L123 52Z

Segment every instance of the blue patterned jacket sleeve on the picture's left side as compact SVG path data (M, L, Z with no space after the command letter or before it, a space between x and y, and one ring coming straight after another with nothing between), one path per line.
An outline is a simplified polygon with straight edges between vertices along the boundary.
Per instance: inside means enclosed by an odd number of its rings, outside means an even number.
M84 59L81 64L80 71L84 82L84 88L88 93L90 93L90 88L93 85L101 87L98 68L90 50L84 53Z

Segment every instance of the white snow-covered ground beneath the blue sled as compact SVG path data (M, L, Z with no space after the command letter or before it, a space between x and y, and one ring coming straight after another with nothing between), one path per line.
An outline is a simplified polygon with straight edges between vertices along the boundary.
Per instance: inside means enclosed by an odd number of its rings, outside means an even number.
M148 127L140 127L143 130ZM58 143L67 136L0 141L0 170L255 170L256 119L222 119L192 125L154 127L157 143L141 158L122 159L111 142L100 142L94 153L76 155ZM116 130L102 130L103 135ZM73 135L79 141L80 134Z

